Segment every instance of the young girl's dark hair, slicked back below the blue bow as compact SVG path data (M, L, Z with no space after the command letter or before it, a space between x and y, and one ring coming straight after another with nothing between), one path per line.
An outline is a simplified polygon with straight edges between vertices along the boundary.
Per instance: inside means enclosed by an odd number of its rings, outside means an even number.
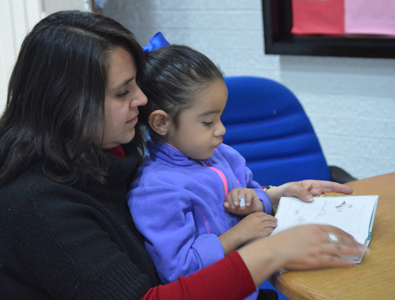
M147 127L149 115L161 109L175 127L180 113L191 107L194 95L215 80L224 80L219 68L204 54L184 45L169 45L147 54L144 76L138 81L148 103L139 109L139 120ZM156 134L150 129L150 134Z

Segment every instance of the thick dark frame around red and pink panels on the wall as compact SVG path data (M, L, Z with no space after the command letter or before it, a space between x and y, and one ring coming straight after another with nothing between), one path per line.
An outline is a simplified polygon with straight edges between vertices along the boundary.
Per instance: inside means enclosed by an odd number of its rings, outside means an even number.
M262 0L266 54L395 58L395 36L294 35L291 0Z

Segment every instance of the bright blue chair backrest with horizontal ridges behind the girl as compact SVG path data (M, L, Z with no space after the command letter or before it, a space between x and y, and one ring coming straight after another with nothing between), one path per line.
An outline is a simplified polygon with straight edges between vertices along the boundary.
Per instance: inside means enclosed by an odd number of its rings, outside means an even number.
M303 179L330 180L316 133L303 107L285 86L259 77L226 77L224 143L247 161L261 185Z

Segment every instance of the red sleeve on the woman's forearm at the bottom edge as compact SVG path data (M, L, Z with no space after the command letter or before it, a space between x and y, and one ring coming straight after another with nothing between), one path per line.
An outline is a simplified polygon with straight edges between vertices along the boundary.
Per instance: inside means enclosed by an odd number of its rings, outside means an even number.
M142 300L241 300L255 291L254 281L237 251L187 277L151 288Z

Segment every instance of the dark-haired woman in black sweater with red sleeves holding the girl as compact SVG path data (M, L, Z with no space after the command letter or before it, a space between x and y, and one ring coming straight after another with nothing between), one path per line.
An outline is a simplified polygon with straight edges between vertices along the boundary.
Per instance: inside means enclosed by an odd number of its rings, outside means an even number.
M125 202L144 149L143 55L127 29L89 12L52 14L27 35L0 119L1 298L243 299L279 268L351 265L339 255L362 245L307 225L158 286ZM329 191L352 192L313 180L269 190L275 204Z

